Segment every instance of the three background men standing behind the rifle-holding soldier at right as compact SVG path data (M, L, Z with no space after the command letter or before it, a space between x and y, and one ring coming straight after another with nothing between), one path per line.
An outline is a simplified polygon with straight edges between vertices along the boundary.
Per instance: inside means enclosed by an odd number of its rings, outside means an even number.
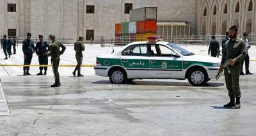
M225 43L230 40L230 36L229 36L229 32L226 33L225 38L222 39L222 49L225 49ZM248 42L248 33L244 32L243 33L243 37L241 38L241 40L243 40L243 42L246 44L245 50L246 50L246 56L244 57L244 59L241 61L241 70L240 70L240 75L253 75L253 73L250 72L249 70L249 64L250 64L250 57L248 54L248 50L250 49L250 44ZM208 50L208 54L210 55L211 52L211 56L212 57L220 57L220 43L218 42L218 40L216 40L215 36L212 36L212 40L210 42L209 45L209 50ZM223 51L222 51L223 54ZM243 72L243 65L245 63L245 74Z

